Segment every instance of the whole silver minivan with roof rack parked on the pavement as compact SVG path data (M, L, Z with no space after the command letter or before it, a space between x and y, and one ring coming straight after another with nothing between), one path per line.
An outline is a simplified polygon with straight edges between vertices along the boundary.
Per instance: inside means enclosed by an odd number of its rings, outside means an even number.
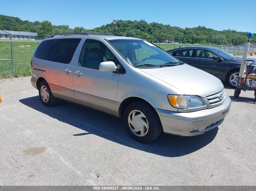
M117 116L139 142L162 130L202 134L219 126L231 106L218 78L137 38L55 35L39 43L31 67L45 106L61 99Z

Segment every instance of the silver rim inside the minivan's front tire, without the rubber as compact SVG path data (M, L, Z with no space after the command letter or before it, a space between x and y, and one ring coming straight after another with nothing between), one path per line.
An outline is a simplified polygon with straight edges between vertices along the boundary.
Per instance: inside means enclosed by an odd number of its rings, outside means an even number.
M133 110L128 116L128 124L131 131L139 136L145 136L148 133L148 120L139 110Z

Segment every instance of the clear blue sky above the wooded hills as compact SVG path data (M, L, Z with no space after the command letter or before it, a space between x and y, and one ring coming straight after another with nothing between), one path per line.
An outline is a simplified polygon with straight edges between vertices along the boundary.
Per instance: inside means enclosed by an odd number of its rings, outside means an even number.
M171 26L205 26L256 33L256 0L168 0L168 1L28 1L12 0L0 14L28 21L51 21L91 29L115 20L145 20ZM249 15L243 15L250 12Z

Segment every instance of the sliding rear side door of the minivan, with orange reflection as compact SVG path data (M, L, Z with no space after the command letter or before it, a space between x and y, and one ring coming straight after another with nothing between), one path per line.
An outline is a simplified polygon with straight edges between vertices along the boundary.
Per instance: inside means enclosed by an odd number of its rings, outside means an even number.
M75 102L73 72L81 38L57 39L46 63L46 77L55 97ZM74 56L75 55L75 56Z

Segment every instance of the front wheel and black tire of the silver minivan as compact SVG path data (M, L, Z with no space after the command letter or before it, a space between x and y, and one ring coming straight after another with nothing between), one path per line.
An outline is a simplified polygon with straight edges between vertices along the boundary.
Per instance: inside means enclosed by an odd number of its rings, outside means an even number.
M154 141L162 131L157 112L148 103L142 101L128 105L124 113L124 123L128 134L142 143Z

